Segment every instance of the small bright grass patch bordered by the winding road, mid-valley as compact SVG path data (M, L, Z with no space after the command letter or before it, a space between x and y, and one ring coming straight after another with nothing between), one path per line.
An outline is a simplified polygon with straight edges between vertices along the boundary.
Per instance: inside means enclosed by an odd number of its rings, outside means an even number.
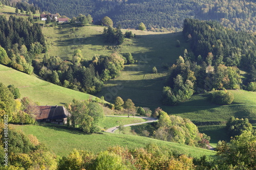
M146 122L146 120L137 117L105 117L98 126L106 130L119 125L127 125L141 122Z

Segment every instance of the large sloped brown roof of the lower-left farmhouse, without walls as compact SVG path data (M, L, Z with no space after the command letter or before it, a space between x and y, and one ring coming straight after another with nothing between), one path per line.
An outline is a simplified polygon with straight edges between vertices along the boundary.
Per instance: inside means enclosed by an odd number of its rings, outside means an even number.
M39 119L62 119L70 116L70 113L63 106L37 106L40 110L36 120Z

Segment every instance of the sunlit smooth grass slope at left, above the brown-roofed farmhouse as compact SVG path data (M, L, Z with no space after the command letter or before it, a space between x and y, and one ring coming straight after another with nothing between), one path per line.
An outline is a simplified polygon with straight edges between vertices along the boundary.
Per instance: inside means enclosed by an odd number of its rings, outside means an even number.
M93 95L57 86L4 65L0 65L0 82L6 86L13 84L18 87L22 98L28 96L40 105L64 105L73 99L95 99Z

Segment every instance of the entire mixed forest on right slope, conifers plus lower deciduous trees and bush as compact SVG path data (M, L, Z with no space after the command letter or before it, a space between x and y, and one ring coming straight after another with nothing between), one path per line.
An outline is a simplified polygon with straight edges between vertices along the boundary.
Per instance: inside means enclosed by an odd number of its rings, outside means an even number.
M164 105L182 103L195 92L255 90L256 40L253 35L227 29L218 21L198 19L185 19L183 34L193 53L184 50L184 56L169 67L169 86L162 91ZM248 71L243 85L239 68ZM232 103L232 95L225 91L212 91L210 98L220 105Z

